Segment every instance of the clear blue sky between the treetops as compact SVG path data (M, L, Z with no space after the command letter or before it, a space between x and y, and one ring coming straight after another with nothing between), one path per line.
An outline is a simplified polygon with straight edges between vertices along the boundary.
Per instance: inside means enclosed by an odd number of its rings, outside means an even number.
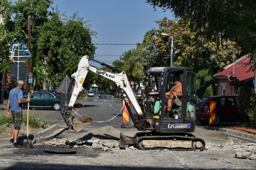
M163 17L173 19L171 11L154 8L145 0L54 0L53 7L71 16L78 12L91 29L97 32L96 44L142 43L144 34L157 28L155 21ZM115 59L135 45L97 45L95 59L112 64ZM113 56L102 56L113 55Z

